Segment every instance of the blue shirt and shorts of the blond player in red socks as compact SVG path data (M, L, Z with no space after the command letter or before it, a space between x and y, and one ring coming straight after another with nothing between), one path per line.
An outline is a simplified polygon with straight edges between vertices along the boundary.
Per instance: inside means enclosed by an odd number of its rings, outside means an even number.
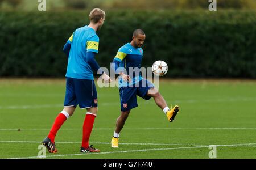
M93 70L100 66L94 59L98 53L99 37L93 28L81 27L73 32L64 46L68 56L64 107L97 107L97 90ZM102 72L103 73L103 72Z

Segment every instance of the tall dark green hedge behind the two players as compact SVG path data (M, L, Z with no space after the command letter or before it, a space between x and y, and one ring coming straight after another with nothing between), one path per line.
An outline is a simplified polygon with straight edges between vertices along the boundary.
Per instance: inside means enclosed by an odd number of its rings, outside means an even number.
M0 12L0 76L63 77L63 46L88 13ZM135 28L146 33L142 66L160 59L170 77L256 78L256 11L106 11L101 66Z

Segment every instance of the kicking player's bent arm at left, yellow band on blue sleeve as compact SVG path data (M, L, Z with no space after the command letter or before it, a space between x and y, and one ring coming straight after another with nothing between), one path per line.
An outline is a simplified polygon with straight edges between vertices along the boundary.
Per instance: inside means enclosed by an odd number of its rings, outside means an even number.
M125 80L125 82L129 81L131 82L131 78L129 75L125 74L125 68L119 67L122 60L127 56L125 52L122 52L122 49L119 49L117 52L117 55L113 59L113 62L111 63L111 69L115 71L115 74L119 74L122 76L122 79Z

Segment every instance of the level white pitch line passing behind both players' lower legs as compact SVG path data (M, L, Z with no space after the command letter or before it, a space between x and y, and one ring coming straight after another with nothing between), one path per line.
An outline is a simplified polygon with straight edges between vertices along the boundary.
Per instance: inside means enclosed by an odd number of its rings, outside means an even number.
M48 128L2 128L0 131L50 130ZM61 130L81 130L81 128L62 128ZM94 128L93 130L114 130L114 128ZM256 130L256 128L125 128L124 130Z

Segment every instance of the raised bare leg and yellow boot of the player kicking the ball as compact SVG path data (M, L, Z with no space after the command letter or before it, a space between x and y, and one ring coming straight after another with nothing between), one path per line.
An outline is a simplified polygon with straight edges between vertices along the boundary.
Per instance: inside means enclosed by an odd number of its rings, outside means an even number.
M166 100L164 100L163 96L159 93L158 90L156 90L156 88L151 88L148 90L147 95L152 96L156 105L163 109L163 112L166 114L168 121L174 121L174 118L179 113L179 106L175 105L175 107L171 109L167 107Z

